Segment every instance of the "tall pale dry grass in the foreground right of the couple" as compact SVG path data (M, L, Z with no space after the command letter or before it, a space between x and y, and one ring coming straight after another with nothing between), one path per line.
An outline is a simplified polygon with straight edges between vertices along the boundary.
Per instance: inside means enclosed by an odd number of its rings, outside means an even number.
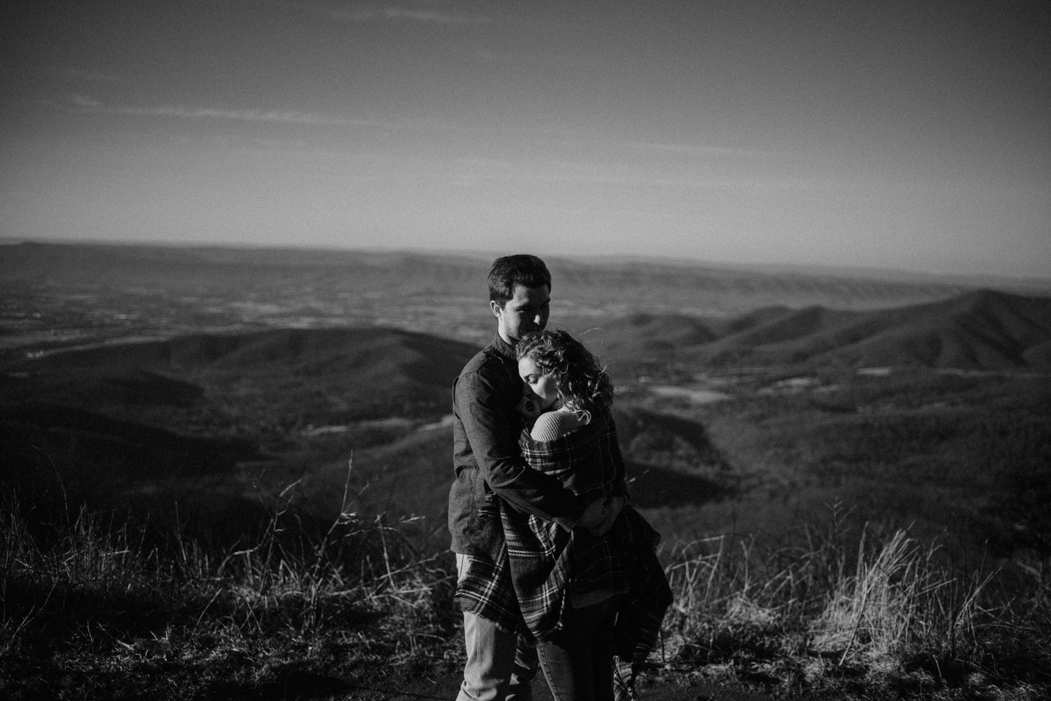
M904 531L843 521L806 545L719 537L681 548L664 660L789 694L1046 698L1051 589L1024 572L954 569ZM1038 575L1030 568L1031 575ZM692 668L691 668L692 667Z

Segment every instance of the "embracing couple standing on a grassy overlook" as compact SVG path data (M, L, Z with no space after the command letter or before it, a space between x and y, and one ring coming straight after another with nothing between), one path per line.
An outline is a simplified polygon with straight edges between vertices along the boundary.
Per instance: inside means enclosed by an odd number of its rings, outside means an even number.
M453 386L449 530L467 664L457 701L634 698L671 591L658 534L628 503L613 384L545 331L551 273L535 255L489 273L493 342Z

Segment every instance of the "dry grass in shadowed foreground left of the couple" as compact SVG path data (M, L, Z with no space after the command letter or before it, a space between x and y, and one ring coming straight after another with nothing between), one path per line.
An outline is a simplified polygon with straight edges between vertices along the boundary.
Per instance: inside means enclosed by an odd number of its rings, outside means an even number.
M213 551L8 499L0 697L283 698L456 668L449 563L416 553L412 527L344 510L317 531L285 504Z

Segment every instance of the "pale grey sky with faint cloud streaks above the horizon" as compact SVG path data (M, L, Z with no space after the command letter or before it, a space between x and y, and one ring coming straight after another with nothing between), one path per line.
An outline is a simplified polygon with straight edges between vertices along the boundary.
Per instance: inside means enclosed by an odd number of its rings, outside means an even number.
M1051 5L36 0L0 236L1051 276Z

